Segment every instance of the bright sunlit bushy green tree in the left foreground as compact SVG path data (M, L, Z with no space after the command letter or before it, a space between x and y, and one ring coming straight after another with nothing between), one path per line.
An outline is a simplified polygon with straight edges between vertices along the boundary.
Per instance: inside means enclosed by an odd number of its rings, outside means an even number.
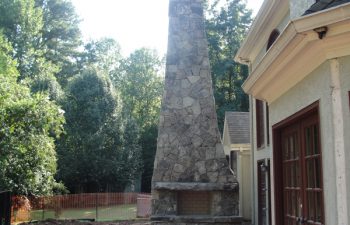
M17 83L12 48L0 35L0 187L15 194L49 194L55 187L54 137L63 130L60 108Z

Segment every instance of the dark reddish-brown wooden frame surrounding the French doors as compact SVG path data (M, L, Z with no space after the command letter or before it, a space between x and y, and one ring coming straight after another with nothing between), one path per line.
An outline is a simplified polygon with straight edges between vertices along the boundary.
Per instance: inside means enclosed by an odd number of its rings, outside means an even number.
M273 134L273 172L274 172L274 203L275 203L275 224L284 223L284 204L283 204L283 168L282 168L282 152L281 150L281 131L310 115L317 114L320 121L319 101L312 103L306 108L298 111L292 116L282 120L272 126ZM320 124L319 124L320 125ZM321 129L319 130L321 132ZM322 173L323 174L323 173ZM279 178L279 179L276 179Z

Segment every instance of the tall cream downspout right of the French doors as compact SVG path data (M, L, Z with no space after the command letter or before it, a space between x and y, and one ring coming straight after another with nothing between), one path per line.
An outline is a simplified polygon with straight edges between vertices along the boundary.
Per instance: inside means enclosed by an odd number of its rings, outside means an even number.
M334 130L334 154L337 195L337 218L339 225L348 225L348 206L346 191L346 161L344 143L344 115L340 89L340 69L338 59L331 59L331 98L332 98L332 125Z

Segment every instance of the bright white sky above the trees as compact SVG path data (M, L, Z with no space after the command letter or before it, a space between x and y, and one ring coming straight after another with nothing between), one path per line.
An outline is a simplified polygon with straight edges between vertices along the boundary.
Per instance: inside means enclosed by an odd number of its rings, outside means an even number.
M247 0L255 15L263 0ZM124 56L147 47L164 55L168 36L168 0L72 0L85 41L113 38Z

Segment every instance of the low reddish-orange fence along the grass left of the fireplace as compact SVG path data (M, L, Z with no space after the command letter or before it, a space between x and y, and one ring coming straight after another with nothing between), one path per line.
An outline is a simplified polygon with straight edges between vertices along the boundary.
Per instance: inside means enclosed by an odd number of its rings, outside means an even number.
M13 197L12 221L53 219L127 220L150 215L151 197L139 193L84 193Z

